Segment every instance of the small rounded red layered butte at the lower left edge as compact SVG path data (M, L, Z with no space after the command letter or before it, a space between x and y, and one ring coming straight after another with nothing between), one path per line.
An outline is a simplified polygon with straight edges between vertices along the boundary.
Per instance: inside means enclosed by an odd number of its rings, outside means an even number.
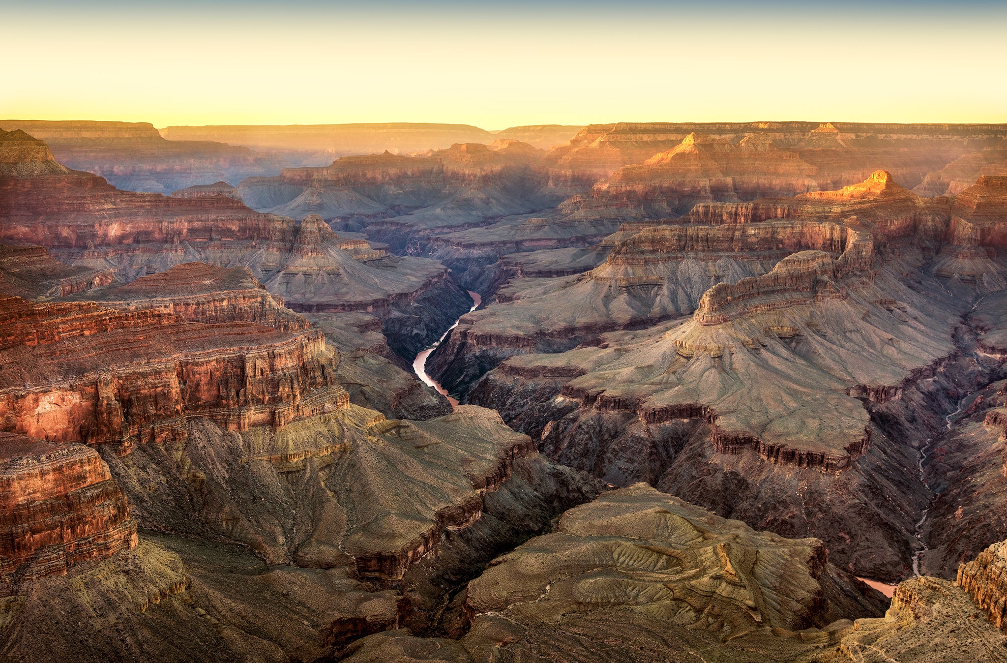
M95 449L0 432L0 593L136 545L126 496Z

